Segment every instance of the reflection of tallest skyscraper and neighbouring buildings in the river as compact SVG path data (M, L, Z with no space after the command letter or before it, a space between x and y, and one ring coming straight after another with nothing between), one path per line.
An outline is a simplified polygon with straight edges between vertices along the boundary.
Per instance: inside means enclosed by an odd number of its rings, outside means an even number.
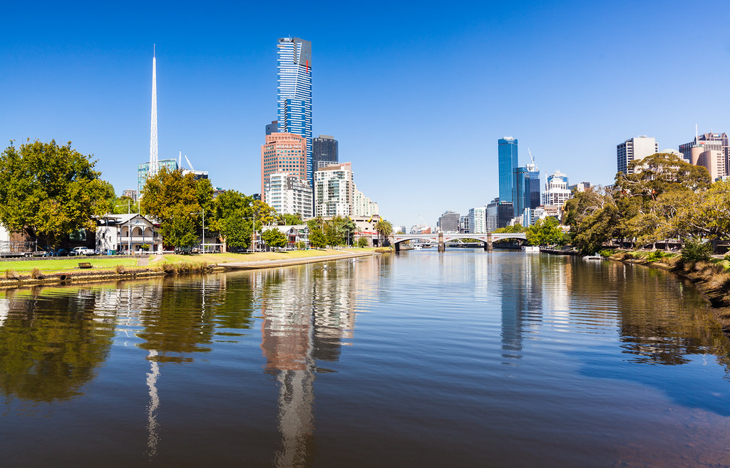
M256 273L264 372L276 375L279 386L277 467L310 464L318 362L339 359L353 336L356 291L365 303L374 300L378 270L377 259L368 258Z

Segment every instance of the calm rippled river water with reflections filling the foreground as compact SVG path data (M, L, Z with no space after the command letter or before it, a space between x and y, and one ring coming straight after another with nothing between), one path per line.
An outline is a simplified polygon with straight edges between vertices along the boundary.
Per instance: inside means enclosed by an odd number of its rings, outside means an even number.
M3 467L725 467L730 345L661 270L407 251L0 292Z

